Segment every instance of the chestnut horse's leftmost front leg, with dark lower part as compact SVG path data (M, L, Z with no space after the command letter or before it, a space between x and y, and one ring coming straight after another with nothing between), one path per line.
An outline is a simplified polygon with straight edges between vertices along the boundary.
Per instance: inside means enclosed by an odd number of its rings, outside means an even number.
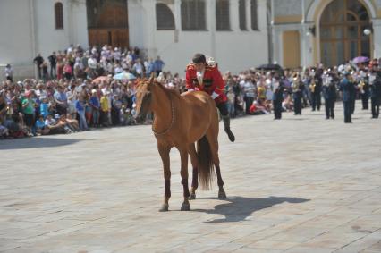
M166 212L169 208L169 198L171 198L171 169L169 160L170 147L157 143L157 149L159 151L161 160L163 162L163 172L164 172L164 203L159 209L160 212Z

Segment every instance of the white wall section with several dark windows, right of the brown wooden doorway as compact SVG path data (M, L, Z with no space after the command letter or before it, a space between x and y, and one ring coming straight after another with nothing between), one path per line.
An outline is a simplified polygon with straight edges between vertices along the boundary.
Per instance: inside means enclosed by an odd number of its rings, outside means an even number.
M188 4L186 2L202 4L184 6ZM240 4L243 5L241 9ZM253 9L252 4L256 4ZM205 23L198 26L187 24L183 19L187 19L190 10L186 7L197 8L198 20L205 19ZM241 72L268 62L266 0L131 0L128 8L130 45L144 48L151 57L160 55L166 70L183 73L195 53L215 58L223 72ZM164 15L173 15L174 25L170 29L165 26L161 29L161 24L157 23L160 22L159 8L166 9ZM205 8L204 11L201 8ZM244 10L246 17L241 17L241 21L240 10ZM222 14L219 15L219 11ZM191 17L188 21L194 22ZM167 23L170 22L164 25Z

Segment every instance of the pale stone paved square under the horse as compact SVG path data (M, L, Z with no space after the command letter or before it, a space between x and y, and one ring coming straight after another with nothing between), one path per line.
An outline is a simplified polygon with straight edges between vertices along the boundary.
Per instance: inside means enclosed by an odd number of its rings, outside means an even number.
M324 109L324 108L323 108ZM0 252L380 252L381 120L323 111L233 120L221 132L228 195L170 212L150 126L0 141ZM222 123L222 122L221 122Z

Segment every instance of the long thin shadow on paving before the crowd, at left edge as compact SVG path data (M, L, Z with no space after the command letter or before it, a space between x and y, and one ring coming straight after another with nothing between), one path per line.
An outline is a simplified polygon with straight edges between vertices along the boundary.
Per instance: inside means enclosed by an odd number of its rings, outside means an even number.
M6 139L0 141L0 150L23 149L23 148L51 148L66 146L77 143L80 139L59 139L59 138L25 138Z

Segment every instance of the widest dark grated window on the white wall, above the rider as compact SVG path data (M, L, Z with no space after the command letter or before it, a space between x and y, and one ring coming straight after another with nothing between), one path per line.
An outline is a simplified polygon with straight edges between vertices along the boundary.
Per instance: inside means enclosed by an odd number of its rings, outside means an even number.
M207 30L205 0L182 0L182 30Z

